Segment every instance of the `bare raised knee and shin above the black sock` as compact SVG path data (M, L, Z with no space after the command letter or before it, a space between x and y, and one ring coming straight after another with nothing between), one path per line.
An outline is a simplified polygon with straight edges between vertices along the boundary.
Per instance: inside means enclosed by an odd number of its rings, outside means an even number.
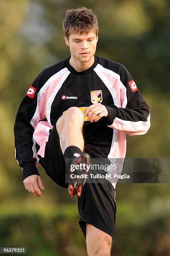
M84 115L77 107L71 107L64 113L56 123L56 129L60 137L60 146L62 153L68 146L76 146L84 151L84 138L82 135L82 126Z

